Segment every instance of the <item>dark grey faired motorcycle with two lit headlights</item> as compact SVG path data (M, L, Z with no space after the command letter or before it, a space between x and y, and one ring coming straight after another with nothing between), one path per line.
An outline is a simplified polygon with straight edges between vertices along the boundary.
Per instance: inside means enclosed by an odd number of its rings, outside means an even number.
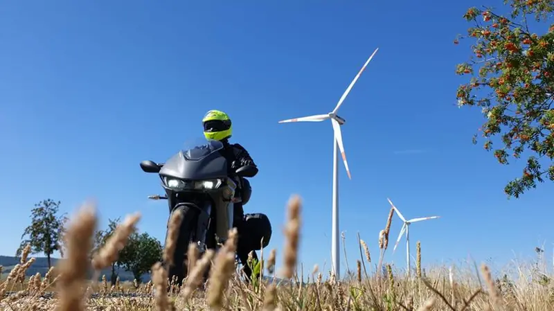
M178 211L183 216L173 255L175 264L168 269L170 279L175 276L178 283L188 274L188 245L195 243L201 254L223 245L233 228L233 204L244 205L250 199L252 190L245 177L256 175L258 168L242 166L230 175L229 164L220 153L223 148L220 141L195 140L166 163L141 162L144 172L159 175L166 192L149 198L168 200L168 219Z

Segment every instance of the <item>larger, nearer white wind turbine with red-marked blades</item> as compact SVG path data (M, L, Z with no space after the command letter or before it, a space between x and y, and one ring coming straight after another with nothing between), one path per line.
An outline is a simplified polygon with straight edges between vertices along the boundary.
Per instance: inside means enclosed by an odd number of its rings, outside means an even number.
M346 120L341 118L340 116L337 116L337 112L339 111L339 108L341 107L344 99L346 96L348 96L348 93L350 93L350 90L358 80L359 76L362 72L366 69L366 66L369 64L370 60L373 58L373 55L377 53L377 50L379 48L376 48L373 54L368 58L366 63L363 67L361 67L358 74L355 76L354 80L350 82L350 85L344 91L344 94L342 94L341 99L339 99L339 103L337 103L337 106L334 107L332 112L329 112L328 114L318 114L315 116L305 116L302 118L292 118L289 120L283 120L279 121L279 123L289 123L289 122L321 122L325 120L331 120L331 124L333 127L334 137L333 137L333 193L332 193L332 242L331 242L331 256L332 256L332 269L334 270L334 275L337 278L337 280L340 279L340 254L339 254L339 152L337 150L337 145L339 146L339 149L341 151L341 157L342 161L344 163L344 167L346 168L346 174L348 174L348 179L352 179L350 176L350 169L348 169L348 162L346 161L346 154L344 153L344 145L342 142L342 134L341 134L341 125L343 125Z

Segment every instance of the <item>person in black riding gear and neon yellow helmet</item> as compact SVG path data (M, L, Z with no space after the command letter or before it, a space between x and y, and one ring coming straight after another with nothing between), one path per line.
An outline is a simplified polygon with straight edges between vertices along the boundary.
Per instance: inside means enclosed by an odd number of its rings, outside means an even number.
M250 154L242 145L238 143L229 143L229 138L233 134L233 126L231 125L231 118L219 110L210 110L206 113L202 119L202 125L204 126L204 136L206 139L220 141L223 143L222 155L227 160L227 163L231 163L229 166L229 174L234 175L235 170L242 166L256 166ZM237 202L233 206L233 227L237 228L239 239L237 245L237 255L240 262L243 265L244 273L247 277L251 276L251 269L247 265L248 254L253 251L251 244L248 241L248 237L244 235L246 231L244 220L244 209L242 208L242 202ZM253 251L254 258L257 259L256 251Z

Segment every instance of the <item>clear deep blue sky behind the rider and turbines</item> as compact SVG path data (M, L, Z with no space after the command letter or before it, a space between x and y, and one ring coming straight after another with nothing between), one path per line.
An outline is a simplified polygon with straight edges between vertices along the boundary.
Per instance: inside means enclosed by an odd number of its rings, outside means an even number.
M329 268L332 127L277 121L332 110L379 47L339 112L350 267L357 231L377 258L386 197L406 217L443 216L411 227L427 263L533 256L552 242L553 185L508 201L503 186L522 163L501 166L472 145L480 111L455 105L464 80L454 69L470 49L452 40L481 3L3 1L0 254L14 254L28 211L48 197L69 212L96 198L102 226L141 211L141 230L163 239L166 202L146 199L161 193L159 179L139 162L165 161L202 135L208 109L222 109L260 167L245 209L271 217L267 251L280 251L284 207L298 193L301 260ZM395 217L391 239L400 225ZM387 260L403 267L404 254L401 245Z

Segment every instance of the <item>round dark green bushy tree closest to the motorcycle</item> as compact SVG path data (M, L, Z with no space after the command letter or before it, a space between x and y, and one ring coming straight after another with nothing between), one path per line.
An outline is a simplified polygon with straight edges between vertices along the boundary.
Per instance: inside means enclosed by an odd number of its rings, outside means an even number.
M162 247L157 238L148 233L133 233L119 253L119 263L141 283L143 274L150 272L152 265L161 261L161 256Z

